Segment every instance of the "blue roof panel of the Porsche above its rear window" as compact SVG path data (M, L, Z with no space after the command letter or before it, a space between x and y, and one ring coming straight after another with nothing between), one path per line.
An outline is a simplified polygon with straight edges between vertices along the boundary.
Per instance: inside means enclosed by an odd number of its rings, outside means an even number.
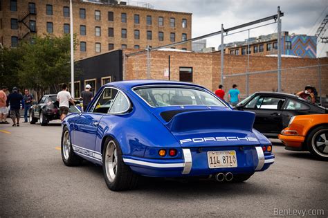
M182 86L198 87L203 89L203 87L197 84L192 84L190 82L179 82L179 81L168 81L168 80L124 80L118 82L109 82L104 86L105 87L114 86L114 87L119 87L121 89L129 90L134 87L147 86L147 85L182 85Z

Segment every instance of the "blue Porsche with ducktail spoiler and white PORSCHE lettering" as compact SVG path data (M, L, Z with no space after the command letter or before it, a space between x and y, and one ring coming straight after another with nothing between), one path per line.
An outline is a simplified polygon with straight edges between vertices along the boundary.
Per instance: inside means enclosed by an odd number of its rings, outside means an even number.
M62 159L102 165L111 190L135 188L140 175L242 182L275 161L254 120L197 84L111 82L63 120Z

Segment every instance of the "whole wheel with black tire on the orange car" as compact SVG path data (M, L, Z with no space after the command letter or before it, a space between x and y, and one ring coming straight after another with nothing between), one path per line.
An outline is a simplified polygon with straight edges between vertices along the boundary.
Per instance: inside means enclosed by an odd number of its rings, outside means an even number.
M324 138L322 138L322 136L324 136ZM312 129L307 136L307 147L309 148L309 152L321 161L328 161L327 141L328 125L321 125Z

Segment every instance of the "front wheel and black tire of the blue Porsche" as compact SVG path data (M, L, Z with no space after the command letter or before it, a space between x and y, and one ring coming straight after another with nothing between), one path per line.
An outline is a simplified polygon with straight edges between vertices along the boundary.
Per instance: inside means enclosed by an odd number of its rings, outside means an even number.
M68 140L67 140L66 136L69 137ZM64 127L64 129L63 129L62 143L61 143L60 147L61 147L62 160L64 162L64 165L71 167L71 166L80 165L82 163L82 158L73 152L71 137L69 134L69 129L67 127Z

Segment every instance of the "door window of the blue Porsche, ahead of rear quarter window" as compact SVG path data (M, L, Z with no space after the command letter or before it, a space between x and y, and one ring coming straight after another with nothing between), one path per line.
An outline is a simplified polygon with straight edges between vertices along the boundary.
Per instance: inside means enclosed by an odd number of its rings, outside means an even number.
M117 93L118 91L116 89L105 88L95 104L93 104L93 106L89 109L89 112L108 113L111 105L113 105L113 100L115 99Z

